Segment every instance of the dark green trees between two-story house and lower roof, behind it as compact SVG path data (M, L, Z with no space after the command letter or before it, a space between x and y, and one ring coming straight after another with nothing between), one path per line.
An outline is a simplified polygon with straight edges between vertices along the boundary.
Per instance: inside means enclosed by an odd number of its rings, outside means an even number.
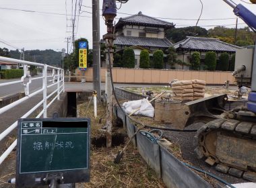
M200 27L186 27L186 28L172 28L166 31L166 38L172 40L172 42L179 42L184 40L186 36L201 36L207 37L207 30Z

